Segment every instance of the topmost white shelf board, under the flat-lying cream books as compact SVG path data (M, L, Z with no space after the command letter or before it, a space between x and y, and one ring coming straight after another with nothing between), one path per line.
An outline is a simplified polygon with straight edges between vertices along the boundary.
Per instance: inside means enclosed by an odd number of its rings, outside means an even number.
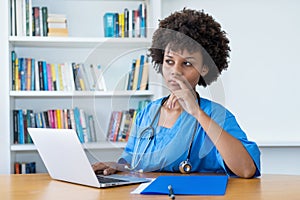
M95 37L19 37L10 36L9 42L17 47L96 48L96 47L149 47L147 38L95 38Z

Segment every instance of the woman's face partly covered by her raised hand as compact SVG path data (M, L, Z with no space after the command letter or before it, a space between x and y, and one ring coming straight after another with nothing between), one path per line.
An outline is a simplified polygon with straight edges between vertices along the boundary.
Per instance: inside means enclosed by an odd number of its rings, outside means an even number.
M207 67L203 67L201 52L189 53L186 49L174 52L167 48L162 72L168 88L175 91L181 89L176 80L184 81L188 88L195 89L200 75L204 76L208 71Z

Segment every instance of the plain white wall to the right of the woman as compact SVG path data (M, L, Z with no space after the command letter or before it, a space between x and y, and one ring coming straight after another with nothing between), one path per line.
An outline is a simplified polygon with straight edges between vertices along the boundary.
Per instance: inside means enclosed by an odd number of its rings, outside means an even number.
M264 173L300 174L300 2L164 0L211 14L230 39L229 69L200 95L231 110L262 151Z

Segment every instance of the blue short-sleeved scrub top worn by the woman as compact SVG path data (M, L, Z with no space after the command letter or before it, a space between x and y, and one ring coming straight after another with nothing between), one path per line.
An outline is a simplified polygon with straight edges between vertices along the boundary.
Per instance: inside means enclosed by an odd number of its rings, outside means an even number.
M119 161L125 160L135 170L179 172L179 165L187 159L191 146L192 172L226 173L234 176L201 125L187 112L183 111L171 128L157 125L159 113L157 117L155 114L160 109L162 99L149 103L137 114ZM256 165L255 176L260 176L259 148L255 142L247 139L234 115L222 105L205 98L200 98L200 106L224 130L242 142ZM152 122L154 132L149 128ZM150 140L151 134L153 139Z

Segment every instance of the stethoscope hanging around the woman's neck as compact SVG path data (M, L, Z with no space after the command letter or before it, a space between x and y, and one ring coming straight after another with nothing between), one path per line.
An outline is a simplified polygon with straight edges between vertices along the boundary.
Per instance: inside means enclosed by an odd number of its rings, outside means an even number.
M198 100L198 104L200 105L200 97L199 97L199 94L196 92L197 94L197 100ZM143 155L146 153L152 139L154 138L154 134L155 134L155 130L154 130L154 127L153 127L153 124L154 122L156 121L156 118L161 110L161 107L164 105L164 103L168 100L169 96L165 97L162 101L161 101L161 104L159 106L159 108L157 109L150 125L148 127L146 127L145 129L143 129L140 133L140 136L138 138L138 141L137 141L137 144L135 145L134 147L134 153L133 153L133 156L132 156L132 160L131 160L131 166L127 166L125 165L125 168L128 169L128 170L136 170L137 167L139 166L142 158L143 158ZM194 137L196 135L196 131L197 131L197 128L198 128L198 121L196 120L195 121L195 126L194 126L194 130L193 130L193 135L192 135L192 138L191 138L191 141L190 141L190 144L189 144L189 149L188 149L188 155L187 155L187 159L182 161L180 164L179 164L179 171L183 174L187 174L187 173L190 173L192 171L192 164L190 162L190 157L191 157L191 149L192 149L192 145L193 145L193 141L194 141ZM141 156L139 157L139 159L136 161L137 159L137 150L140 146L140 141L141 141L141 138L145 135L146 132L150 132L150 135L149 135L149 138L148 138L148 142L144 148L144 150L142 151L142 154L140 154ZM142 170L138 170L138 171L142 171Z

